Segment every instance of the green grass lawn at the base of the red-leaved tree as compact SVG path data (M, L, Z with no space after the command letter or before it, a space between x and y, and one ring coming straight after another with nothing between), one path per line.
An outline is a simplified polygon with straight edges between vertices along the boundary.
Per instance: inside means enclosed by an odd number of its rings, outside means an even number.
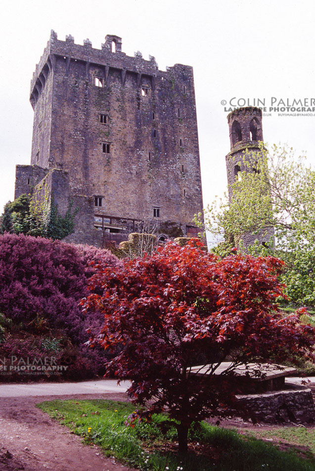
M203 422L190 432L189 454L177 455L176 429L164 434L161 423L165 415L153 416L151 423L126 426L134 406L124 402L46 401L38 404L42 411L83 437L85 443L99 445L104 454L149 471L314 471L315 431L299 427L274 431L253 431L244 434L234 430L210 426ZM287 443L307 447L306 458L294 450L280 451L259 437L282 437ZM279 435L276 435L278 433ZM274 438L275 439L275 438ZM310 457L310 458L308 458Z

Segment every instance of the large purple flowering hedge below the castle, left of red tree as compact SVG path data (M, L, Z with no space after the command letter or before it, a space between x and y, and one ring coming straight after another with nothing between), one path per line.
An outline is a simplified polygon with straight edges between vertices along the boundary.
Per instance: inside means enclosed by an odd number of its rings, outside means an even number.
M90 262L113 269L122 263L108 250L88 245L25 235L0 236L0 313L12 320L11 331L19 325L31 335L51 337L58 333L74 350L80 350L82 359L75 359L73 353L73 364L86 359L95 373L103 353L98 349L92 352L84 343L89 339L86 330L96 330L102 315L86 315L79 305L88 294L88 279L95 270ZM9 352L10 343L15 351L18 330L14 336L10 332L0 343L0 354L1 349L3 354ZM89 369L87 365L85 369Z

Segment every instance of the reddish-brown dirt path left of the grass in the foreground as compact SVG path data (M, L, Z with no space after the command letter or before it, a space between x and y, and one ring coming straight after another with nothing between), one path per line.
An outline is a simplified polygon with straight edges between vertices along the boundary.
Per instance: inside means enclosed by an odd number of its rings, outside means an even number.
M124 401L124 393L73 395L74 399ZM35 407L35 404L69 396L14 397L0 399L1 471L128 471L130 468L105 458L96 446L84 446L71 434Z

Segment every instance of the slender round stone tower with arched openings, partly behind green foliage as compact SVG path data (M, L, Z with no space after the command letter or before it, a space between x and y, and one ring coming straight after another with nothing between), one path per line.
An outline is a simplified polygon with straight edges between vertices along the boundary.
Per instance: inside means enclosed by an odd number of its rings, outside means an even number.
M226 172L228 184L228 196L233 197L231 185L239 172L244 171L244 153L246 150L255 153L255 159L259 159L261 153L259 143L263 141L262 110L256 107L238 108L227 116L231 150L226 155ZM253 169L253 171L255 171ZM242 240L245 246L250 245L256 239L263 245L270 244L270 237L274 236L273 228L266 228L259 234L244 234Z

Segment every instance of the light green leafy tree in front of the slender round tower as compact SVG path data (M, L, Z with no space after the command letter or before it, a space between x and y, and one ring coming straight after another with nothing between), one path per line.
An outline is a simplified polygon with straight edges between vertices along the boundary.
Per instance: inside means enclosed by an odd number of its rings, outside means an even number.
M239 164L244 170L231 185L231 201L225 196L205 210L205 229L225 240L215 251L225 256L233 246L244 248L244 235L256 235L246 250L284 260L286 294L315 304L315 171L292 148L276 145L245 152ZM261 238L272 228L274 241L264 247Z

